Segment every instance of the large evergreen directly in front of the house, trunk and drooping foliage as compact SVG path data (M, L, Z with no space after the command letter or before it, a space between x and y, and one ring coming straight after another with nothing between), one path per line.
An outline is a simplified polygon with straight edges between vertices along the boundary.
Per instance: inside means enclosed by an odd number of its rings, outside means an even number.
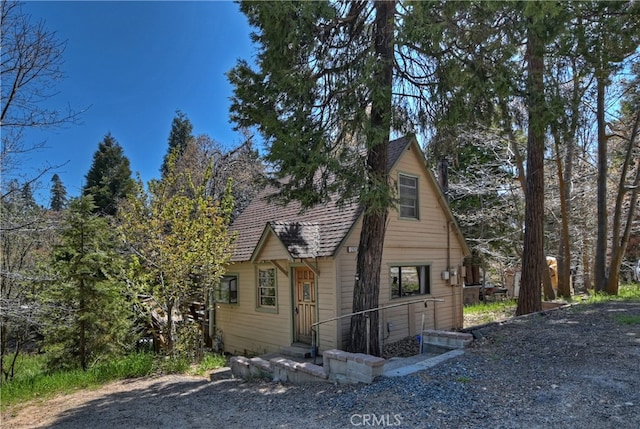
M241 10L257 29L252 38L260 50L258 70L240 61L228 74L232 119L263 135L277 200L361 204L352 308L377 308L394 207L390 133L411 127L406 119L416 116L408 109L420 104L419 97L412 105L394 98L396 2L243 2ZM397 87L402 83L409 81ZM368 317L378 326L377 312ZM349 348L377 354L379 338L376 329L367 338L366 318L352 317Z

